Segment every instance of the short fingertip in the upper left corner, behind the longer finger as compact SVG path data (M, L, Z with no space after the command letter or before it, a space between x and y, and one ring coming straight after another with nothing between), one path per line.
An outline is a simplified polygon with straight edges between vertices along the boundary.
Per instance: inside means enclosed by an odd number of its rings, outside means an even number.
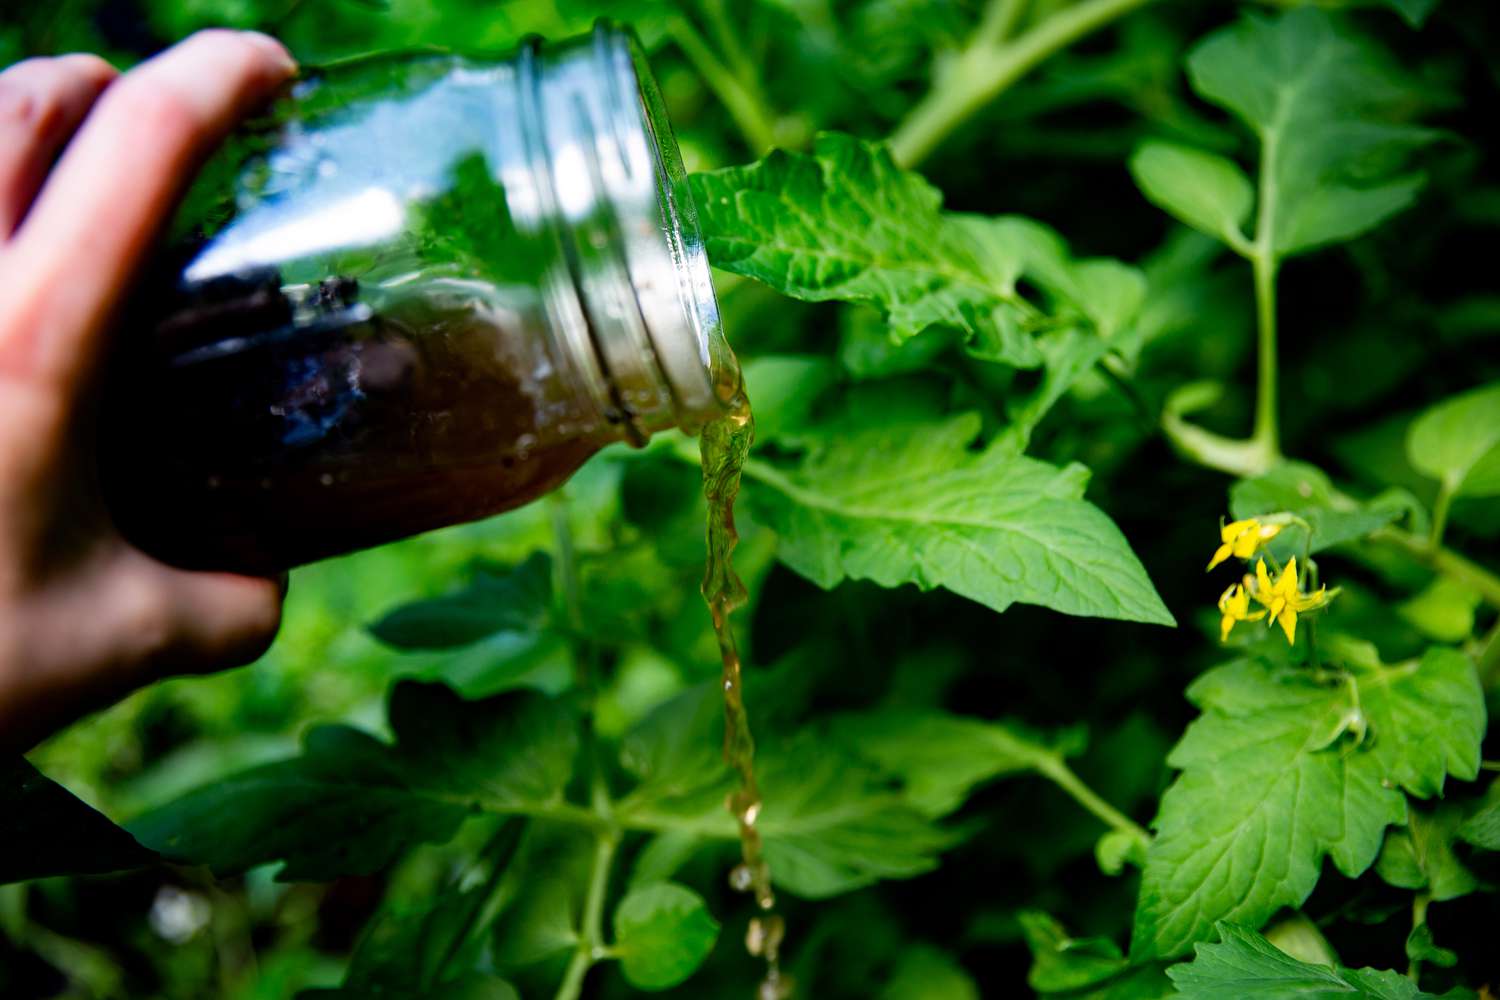
M28 58L0 73L0 241L15 232L58 150L116 76L98 55Z

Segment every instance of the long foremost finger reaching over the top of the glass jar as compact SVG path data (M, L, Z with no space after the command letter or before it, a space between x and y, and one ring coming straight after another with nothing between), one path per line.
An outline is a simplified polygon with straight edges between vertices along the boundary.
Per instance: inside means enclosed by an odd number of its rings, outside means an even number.
M105 90L0 261L0 373L76 385L204 156L292 70L270 37L201 31Z

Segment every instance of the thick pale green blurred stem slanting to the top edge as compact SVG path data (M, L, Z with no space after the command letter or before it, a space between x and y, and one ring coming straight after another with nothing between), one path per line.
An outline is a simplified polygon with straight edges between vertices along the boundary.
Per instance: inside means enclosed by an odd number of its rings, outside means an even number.
M915 166L974 112L1002 94L1054 52L1154 0L1083 0L1064 7L1014 40L996 43L1005 27L1000 10L986 16L954 64L940 75L906 120L891 135L891 154Z

